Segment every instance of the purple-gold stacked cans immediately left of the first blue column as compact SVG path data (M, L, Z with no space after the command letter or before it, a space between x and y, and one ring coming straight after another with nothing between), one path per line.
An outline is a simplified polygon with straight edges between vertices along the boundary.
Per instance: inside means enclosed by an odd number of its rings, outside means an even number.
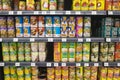
M8 37L15 37L14 18L7 17Z

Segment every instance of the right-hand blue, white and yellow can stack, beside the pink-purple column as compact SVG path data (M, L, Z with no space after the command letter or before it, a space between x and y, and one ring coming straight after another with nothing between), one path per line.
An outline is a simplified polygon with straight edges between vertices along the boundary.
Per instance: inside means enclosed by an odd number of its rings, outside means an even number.
M68 22L68 34L69 37L75 37L75 18L74 17L69 17L69 22Z

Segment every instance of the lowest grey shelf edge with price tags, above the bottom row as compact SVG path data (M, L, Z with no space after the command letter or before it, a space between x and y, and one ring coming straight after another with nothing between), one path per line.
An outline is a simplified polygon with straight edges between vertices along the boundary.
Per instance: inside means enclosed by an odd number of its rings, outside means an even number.
M0 67L4 66L39 66L39 67L58 67L58 66L118 66L120 62L0 62Z

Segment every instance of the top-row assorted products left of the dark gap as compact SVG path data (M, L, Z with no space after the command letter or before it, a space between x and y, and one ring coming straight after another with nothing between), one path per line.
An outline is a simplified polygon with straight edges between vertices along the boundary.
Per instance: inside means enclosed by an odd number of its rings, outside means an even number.
M64 10L63 0L0 0L0 10Z

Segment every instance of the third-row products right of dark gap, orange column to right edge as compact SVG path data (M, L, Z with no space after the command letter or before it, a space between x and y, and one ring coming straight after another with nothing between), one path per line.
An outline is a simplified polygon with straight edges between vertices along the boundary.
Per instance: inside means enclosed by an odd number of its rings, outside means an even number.
M120 61L120 43L54 43L55 62Z

